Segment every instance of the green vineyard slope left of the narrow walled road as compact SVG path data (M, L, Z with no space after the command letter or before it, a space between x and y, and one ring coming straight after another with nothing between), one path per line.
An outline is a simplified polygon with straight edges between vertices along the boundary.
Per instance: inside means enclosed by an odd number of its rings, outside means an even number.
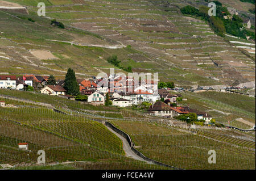
M101 123L84 117L45 108L1 108L0 115L1 164L44 169L35 166L37 152L43 149L47 164L83 161L73 169L111 169L117 165L121 169L166 169L125 157L118 137ZM18 149L20 142L28 142L30 151ZM54 165L45 167L51 168Z

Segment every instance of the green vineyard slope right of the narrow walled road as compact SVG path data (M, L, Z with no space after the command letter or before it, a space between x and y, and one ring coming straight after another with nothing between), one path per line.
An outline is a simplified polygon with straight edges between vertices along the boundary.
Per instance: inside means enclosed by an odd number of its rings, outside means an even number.
M200 131L192 134L159 125L112 121L130 134L136 148L146 157L183 169L255 169L255 138L246 141L238 138L239 132L214 134ZM213 132L213 134L212 134ZM204 136L200 136L204 133ZM214 138L214 140L212 139ZM232 143L232 144L230 144ZM254 148L253 150L243 148ZM208 163L208 151L216 151L216 164Z

